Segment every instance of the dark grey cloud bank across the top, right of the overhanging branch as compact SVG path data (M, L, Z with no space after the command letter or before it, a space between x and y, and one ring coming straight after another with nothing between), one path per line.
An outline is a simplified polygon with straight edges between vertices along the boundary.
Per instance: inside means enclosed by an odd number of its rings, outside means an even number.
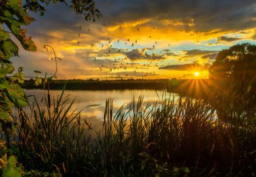
M255 26L253 0L98 0L96 4L108 19L102 20L106 26L149 18L155 20L153 24L165 19L182 22L184 25L181 28L197 32L243 30ZM189 25L191 19L194 26Z

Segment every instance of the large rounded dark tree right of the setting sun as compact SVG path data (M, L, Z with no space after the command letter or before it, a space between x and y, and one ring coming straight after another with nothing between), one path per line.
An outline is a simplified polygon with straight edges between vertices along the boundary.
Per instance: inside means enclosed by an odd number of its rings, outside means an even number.
M249 84L256 76L256 46L237 44L220 51L209 71L213 81Z

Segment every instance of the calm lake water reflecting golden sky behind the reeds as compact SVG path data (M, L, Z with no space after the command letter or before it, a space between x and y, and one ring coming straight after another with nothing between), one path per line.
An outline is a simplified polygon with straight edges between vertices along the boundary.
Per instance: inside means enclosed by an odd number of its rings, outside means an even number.
M40 101L44 95L47 96L46 90L25 90L27 96L29 98L30 105L32 104L34 95L38 101ZM53 98L57 98L57 96L61 95L61 90L51 90L51 103L53 104ZM159 100L162 97L163 91L155 91L155 90L100 90L100 91L71 91L66 90L64 96L69 96L71 100L75 99L73 107L71 110L75 110L76 112L81 112L82 118L89 119L92 122L93 127L98 127L102 125L103 115L105 110L105 103L107 98L113 98L113 110L114 115L121 106L125 108L129 108L129 106L133 103L133 98L135 98L135 102L137 102L139 96L143 96L143 102L153 104L156 100ZM166 93L166 96L174 96L176 98L179 97L179 94L169 94ZM90 106L90 105L98 105L98 106ZM42 106L46 106L43 102ZM90 107L87 107L90 106Z

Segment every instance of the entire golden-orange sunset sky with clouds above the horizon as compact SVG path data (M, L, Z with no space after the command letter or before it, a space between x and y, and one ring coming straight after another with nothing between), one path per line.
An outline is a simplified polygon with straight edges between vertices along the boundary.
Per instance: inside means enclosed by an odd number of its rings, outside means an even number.
M219 50L256 39L256 2L253 0L97 0L103 17L86 22L64 3L49 5L28 34L37 52L20 49L12 59L42 75L58 79L183 79L207 78ZM199 75L195 76L195 72Z

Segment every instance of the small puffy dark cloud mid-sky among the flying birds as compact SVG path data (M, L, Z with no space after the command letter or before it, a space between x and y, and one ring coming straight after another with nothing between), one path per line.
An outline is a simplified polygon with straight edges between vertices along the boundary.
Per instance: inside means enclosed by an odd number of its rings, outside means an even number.
M164 55L156 55L154 52L152 54L147 54L146 49L138 50L133 49L129 52L126 52L126 56L131 60L160 60L165 59Z

